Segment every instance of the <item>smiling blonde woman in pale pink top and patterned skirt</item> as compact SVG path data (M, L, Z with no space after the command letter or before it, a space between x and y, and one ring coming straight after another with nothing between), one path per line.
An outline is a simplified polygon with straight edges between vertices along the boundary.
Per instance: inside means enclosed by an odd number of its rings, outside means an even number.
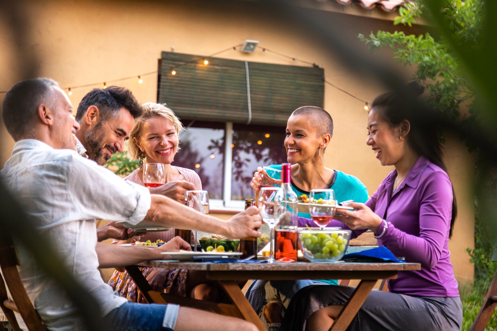
M138 185L143 184L143 165L146 163L163 163L166 185L150 189L184 203L187 190L202 190L198 175L190 169L172 166L174 156L179 150L178 133L182 129L181 122L166 105L148 102L143 105L144 113L135 122L129 139L129 155L140 160L140 168L129 174L124 180ZM141 237L141 241L165 242L174 237L174 229L164 232L151 232ZM131 240L132 242L133 240ZM112 244L121 244L114 240ZM216 287L197 271L162 268L141 268L144 276L156 291L188 296L194 299L217 301L219 293ZM136 285L125 270L117 270L108 284L130 301L143 302L141 293L137 293Z

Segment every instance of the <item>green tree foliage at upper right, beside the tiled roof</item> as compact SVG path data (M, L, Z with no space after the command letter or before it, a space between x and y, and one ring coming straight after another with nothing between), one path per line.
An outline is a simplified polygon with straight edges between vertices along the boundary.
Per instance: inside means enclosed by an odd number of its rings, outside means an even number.
M460 44L478 46L478 37L481 25L482 3L478 0L469 0L464 3L460 0L446 0L444 19L449 22L455 39ZM407 3L406 7L399 8L400 16L396 17L394 25L412 26L415 19L422 14L422 6L418 2ZM473 102L475 94L469 87L467 75L458 63L456 56L451 52L450 45L444 38L433 38L428 32L418 36L406 34L402 31L394 33L378 31L369 38L359 34L373 52L383 46L394 52L394 59L404 66L415 66L413 79L422 83L429 94L427 102L433 109L440 111L449 119L462 120L466 127L475 127L478 118ZM465 104L469 111L461 117L460 106ZM474 147L468 142L468 147Z

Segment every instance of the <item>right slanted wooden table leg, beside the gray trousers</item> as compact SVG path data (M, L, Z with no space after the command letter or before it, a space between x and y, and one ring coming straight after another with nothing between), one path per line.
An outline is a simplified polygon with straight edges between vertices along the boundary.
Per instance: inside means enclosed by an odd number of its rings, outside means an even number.
M331 326L330 331L347 330L348 326L361 308L367 296L369 295L369 293L371 293L371 290L376 285L376 282L377 279L361 280L359 285L357 285L357 287L355 288L354 293L352 293L352 296L350 297L350 299L348 299L348 302L341 310L340 314L338 314L338 317L335 319L335 322Z

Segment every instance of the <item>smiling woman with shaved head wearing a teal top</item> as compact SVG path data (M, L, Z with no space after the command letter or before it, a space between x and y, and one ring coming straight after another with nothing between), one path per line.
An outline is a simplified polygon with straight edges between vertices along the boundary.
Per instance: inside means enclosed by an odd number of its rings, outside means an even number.
M292 190L297 196L310 196L312 189L333 189L338 201L354 200L366 202L366 187L354 176L325 167L325 151L333 135L333 120L320 107L304 106L296 109L288 119L284 141L287 161L291 166ZM269 168L281 170L281 164ZM260 190L262 168L252 178L250 186ZM273 178L272 185L281 185L281 178ZM314 227L309 213L299 213L299 222ZM306 226L299 223L299 226ZM281 316L290 299L301 288L314 284L336 285L336 280L297 280L253 282L247 291L247 298L259 314L262 323L270 330L279 330Z

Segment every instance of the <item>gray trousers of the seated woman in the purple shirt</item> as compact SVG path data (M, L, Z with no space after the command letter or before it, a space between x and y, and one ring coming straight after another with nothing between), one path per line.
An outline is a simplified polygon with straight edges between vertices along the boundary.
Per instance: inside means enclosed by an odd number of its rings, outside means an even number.
M281 330L304 331L314 312L344 305L354 287L313 285L293 296ZM413 297L373 290L347 331L460 331L463 309L459 297Z

